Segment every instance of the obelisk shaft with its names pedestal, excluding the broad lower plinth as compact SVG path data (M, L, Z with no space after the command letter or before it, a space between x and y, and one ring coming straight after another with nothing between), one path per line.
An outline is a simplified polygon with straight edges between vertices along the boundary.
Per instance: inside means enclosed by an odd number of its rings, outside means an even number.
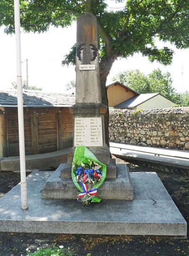
M112 170L111 177L116 177L115 162L110 159L110 148L105 143L104 114L107 106L102 104L97 20L91 13L77 19L76 47L76 104L70 108L74 135L68 165L72 163L75 147L83 145L107 166L107 170Z

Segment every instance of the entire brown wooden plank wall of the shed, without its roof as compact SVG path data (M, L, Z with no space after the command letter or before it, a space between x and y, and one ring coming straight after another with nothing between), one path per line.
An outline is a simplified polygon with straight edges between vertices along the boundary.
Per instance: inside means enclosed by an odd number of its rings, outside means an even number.
M32 113L31 110L24 113L26 155L48 153L73 146L73 117L69 108L54 109L54 113L38 113ZM9 110L5 120L7 156L19 156L17 113Z

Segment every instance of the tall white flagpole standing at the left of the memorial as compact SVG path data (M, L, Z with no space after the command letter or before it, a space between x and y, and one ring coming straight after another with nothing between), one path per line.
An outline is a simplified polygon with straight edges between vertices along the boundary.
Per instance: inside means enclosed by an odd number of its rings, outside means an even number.
M22 95L22 69L21 69L21 47L20 47L20 1L14 0L15 10L15 36L16 36L16 59L17 59L17 105L18 105L18 131L20 150L20 178L21 178L21 202L22 209L27 207L27 186L26 186L26 160L24 141L24 110Z

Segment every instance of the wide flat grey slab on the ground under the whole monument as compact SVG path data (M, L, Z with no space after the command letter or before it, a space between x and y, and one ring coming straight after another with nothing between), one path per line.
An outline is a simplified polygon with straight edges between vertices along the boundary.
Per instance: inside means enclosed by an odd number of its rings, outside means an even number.
M28 209L21 209L20 185L0 198L0 232L108 235L187 235L187 223L156 173L131 172L134 200L42 199L41 189L52 171L27 177Z

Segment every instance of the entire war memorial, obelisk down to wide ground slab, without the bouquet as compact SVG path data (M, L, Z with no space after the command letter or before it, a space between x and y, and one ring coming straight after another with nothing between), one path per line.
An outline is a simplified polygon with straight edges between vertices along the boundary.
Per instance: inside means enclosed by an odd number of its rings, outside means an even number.
M125 234L186 237L187 223L155 172L129 172L116 164L105 142L96 18L77 19L76 104L73 147L55 171L27 177L28 209L20 209L20 185L0 199L0 231ZM100 203L77 202L71 168L77 146L86 146L106 166Z

